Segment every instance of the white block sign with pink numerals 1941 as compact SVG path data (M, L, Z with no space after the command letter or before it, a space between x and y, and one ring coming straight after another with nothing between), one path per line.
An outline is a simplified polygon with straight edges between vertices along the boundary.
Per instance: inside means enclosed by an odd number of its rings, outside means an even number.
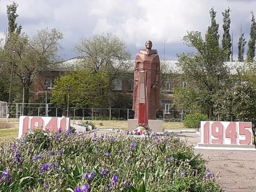
M33 116L20 116L19 134L18 138L24 136L29 130L41 128L42 130L48 129L50 132L57 132L58 128L68 130L70 126L70 119L63 117L33 117Z

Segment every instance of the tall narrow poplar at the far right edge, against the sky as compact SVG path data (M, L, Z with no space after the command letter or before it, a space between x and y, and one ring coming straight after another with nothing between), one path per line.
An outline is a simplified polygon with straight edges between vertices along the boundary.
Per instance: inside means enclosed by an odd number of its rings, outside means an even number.
M250 39L248 41L248 51L247 51L247 62L253 62L255 57L255 43L256 43L256 22L253 12L252 13L252 25L250 31Z

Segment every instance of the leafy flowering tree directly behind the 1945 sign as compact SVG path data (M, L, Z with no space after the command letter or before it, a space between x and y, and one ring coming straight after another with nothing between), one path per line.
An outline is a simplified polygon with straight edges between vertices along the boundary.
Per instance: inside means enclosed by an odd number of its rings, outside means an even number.
M250 82L242 82L230 90L220 91L214 97L216 114L224 121L252 122L255 143L256 89Z

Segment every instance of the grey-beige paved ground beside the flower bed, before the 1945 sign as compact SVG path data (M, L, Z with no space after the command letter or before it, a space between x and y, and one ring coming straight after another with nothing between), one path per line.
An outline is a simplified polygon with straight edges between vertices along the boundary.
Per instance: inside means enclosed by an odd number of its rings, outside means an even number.
M196 133L180 136L194 146L200 142ZM195 149L195 153L209 160L207 167L212 173L220 172L219 184L226 192L256 191L256 151Z

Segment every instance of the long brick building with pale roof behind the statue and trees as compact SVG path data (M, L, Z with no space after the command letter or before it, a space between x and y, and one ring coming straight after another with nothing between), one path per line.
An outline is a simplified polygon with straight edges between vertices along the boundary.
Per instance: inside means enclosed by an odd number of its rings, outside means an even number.
M127 61L115 61L113 62L113 67L116 69L122 68L123 65L128 65L125 67L127 73L131 74L131 78L127 81L122 79L122 77L118 77L114 79L113 82L113 92L125 92L133 94L133 68L134 68L134 62L135 60L127 60ZM163 89L166 91L167 98L165 100L161 100L162 110L164 110L164 113L170 114L171 106L173 103L173 92L172 92L172 86L173 84L178 84L183 88L186 88L189 85L189 82L185 79L181 80L181 82L178 81L177 78L170 74L182 74L182 70L177 65L177 60L165 60L161 61L161 65L164 66L161 69L162 76L168 75L168 79L165 79L165 81L162 83ZM72 58L70 60L65 60L62 62L59 62L58 64L55 64L53 67L50 68L50 71L48 71L44 76L39 77L39 81L34 87L34 100L38 99L40 96L45 95L45 89L44 89L44 81L47 80L50 85L48 88L48 92L51 93L51 90L54 89L53 86L55 84L55 79L60 77L64 74L66 71L72 71L75 70L77 67L84 65L83 58ZM236 67L241 67L244 65L243 62L225 62L225 65L230 69L230 72L232 74L236 74ZM128 70L127 70L128 69ZM179 113L175 116L179 116Z

